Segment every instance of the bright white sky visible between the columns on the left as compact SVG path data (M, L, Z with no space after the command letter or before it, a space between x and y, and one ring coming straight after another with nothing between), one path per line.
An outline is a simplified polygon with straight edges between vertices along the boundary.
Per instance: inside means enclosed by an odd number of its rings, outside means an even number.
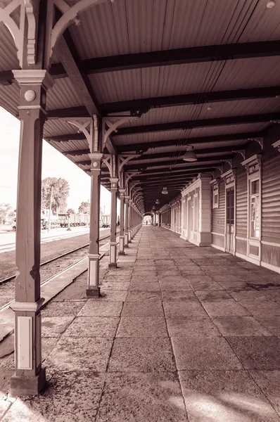
M0 203L16 207L20 121L0 107ZM89 200L91 179L67 157L43 141L42 179L63 177L70 185L68 208L77 212L82 201ZM101 207L110 214L110 192L101 186Z

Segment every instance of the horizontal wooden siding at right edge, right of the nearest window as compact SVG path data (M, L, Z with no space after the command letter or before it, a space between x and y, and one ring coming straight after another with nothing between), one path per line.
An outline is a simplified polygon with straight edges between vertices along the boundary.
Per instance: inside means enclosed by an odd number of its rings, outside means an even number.
M262 164L262 241L280 244L280 154Z

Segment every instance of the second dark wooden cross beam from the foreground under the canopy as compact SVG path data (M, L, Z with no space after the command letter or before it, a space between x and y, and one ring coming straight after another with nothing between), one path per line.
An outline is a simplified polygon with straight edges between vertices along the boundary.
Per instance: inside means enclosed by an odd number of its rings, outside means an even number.
M191 104L217 103L223 101L240 101L255 98L274 98L277 95L280 95L280 87L261 87L253 89L236 89L234 91L200 92L198 94L139 98L130 101L102 103L100 107L103 113L107 114L147 108L174 107Z

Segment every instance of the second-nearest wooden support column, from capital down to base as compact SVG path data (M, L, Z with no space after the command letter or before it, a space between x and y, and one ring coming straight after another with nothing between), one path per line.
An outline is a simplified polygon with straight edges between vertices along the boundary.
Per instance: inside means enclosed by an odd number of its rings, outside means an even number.
M89 222L89 271L87 296L99 296L99 226L101 153L91 153L91 200Z

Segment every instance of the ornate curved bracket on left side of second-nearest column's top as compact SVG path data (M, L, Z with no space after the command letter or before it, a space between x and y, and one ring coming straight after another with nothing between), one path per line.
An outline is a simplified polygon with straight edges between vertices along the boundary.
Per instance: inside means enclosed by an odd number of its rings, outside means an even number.
M66 121L66 120L65 120ZM98 118L96 115L80 119L70 118L68 123L78 128L78 132L82 132L89 143L91 153L100 152L98 144Z

